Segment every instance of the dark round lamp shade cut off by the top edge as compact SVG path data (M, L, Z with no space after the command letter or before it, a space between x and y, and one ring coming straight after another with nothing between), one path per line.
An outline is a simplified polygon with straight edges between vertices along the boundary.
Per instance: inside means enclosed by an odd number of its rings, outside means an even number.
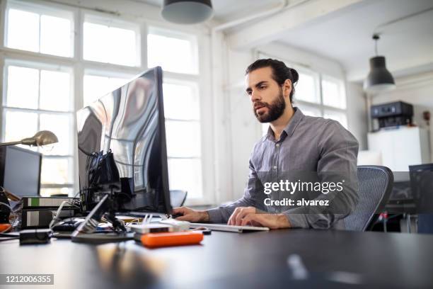
M212 17L211 0L164 0L161 15L166 21L195 24Z

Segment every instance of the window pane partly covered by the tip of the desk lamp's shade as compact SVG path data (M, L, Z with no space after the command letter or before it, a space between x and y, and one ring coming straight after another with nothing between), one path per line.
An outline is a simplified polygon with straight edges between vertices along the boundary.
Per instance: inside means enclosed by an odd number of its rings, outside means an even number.
M72 154L72 139L70 115L47 114L40 115L40 130L50 130L57 136L59 142L52 146L52 150L42 150L43 154L70 155Z

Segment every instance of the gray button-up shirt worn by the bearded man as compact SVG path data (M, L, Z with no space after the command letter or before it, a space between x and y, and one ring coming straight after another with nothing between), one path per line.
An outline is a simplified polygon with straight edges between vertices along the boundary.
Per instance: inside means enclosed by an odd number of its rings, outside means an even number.
M207 210L210 222L227 222L236 207L253 206L266 212L284 213L291 227L344 229L346 215L358 202L357 154L355 137L335 120L304 115L299 108L284 128L279 140L269 128L257 142L250 157L250 174L243 198L231 205ZM345 190L339 195L337 212L305 213L305 208L264 206L258 201L256 185L263 182L260 174L314 171L322 181L326 172L343 172ZM264 193L260 193L266 196ZM325 195L321 196L324 197ZM287 210L284 210L287 209Z

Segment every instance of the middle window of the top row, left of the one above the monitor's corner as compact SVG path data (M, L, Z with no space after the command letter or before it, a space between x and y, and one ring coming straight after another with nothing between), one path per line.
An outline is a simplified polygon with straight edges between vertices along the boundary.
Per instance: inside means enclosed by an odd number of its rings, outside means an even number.
M83 58L139 66L139 26L87 15L83 24Z

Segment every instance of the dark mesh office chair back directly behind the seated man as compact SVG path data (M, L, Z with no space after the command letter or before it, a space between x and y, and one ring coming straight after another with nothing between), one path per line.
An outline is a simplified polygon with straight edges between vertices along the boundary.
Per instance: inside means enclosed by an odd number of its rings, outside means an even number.
M394 176L386 166L358 166L359 203L345 218L349 231L371 229L385 208L393 188Z

